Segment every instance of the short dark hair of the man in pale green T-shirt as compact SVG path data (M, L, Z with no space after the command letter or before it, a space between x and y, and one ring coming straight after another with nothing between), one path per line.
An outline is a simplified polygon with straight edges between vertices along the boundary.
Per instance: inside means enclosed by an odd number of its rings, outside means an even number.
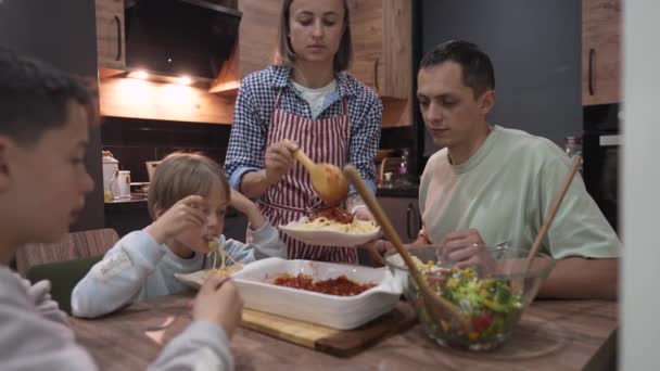
M495 89L495 71L491 59L472 42L450 40L443 42L421 59L419 69L452 61L462 69L462 84L474 92L474 98Z

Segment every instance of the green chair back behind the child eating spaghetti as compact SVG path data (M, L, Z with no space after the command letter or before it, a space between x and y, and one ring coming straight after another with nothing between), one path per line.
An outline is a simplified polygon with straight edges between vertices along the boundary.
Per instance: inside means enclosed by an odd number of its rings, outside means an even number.
M103 256L93 256L34 266L27 271L26 278L33 283L49 280L53 300L58 302L60 309L71 315L71 294L74 287L102 258Z

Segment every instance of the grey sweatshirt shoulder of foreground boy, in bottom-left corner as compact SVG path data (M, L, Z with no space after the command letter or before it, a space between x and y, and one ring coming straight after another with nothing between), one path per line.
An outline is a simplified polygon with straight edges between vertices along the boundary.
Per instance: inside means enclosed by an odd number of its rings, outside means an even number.
M10 273L0 272L2 370L97 370L71 329L37 312Z

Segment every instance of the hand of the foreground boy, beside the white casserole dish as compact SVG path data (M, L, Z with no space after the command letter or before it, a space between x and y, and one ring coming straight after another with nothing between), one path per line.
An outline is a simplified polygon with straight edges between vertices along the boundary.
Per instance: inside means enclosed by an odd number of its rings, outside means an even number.
M231 279L213 277L204 282L192 307L194 320L210 321L225 330L231 338L241 322L243 299Z

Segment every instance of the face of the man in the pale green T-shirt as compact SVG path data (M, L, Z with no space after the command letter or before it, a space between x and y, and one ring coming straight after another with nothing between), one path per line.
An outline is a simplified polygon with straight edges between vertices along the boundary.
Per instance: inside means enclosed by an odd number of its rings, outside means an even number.
M492 108L493 91L475 99L473 90L462 82L458 63L447 61L420 69L417 86L419 107L435 144L461 146L479 135Z

